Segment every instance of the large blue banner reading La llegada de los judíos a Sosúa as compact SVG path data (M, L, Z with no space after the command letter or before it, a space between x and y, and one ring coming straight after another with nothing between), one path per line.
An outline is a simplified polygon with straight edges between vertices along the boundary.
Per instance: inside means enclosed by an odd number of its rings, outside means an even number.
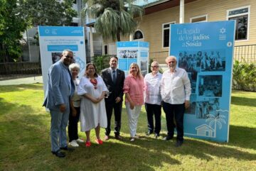
M170 55L191 80L184 134L228 142L235 21L172 24Z

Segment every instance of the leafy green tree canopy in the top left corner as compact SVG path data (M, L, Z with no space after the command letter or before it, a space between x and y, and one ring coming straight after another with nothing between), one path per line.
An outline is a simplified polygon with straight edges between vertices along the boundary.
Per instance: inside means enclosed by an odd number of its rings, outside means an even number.
M0 0L0 62L21 56L22 33L32 26L70 26L73 0Z

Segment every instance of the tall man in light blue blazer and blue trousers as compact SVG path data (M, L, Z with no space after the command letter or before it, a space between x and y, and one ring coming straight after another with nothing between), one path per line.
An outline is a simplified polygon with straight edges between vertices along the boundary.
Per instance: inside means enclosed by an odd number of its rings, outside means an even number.
M43 106L50 109L50 143L51 152L59 158L65 153L60 150L74 150L68 148L66 127L70 112L70 97L75 92L68 66L73 62L73 52L63 50L61 59L50 66L48 71L48 86Z

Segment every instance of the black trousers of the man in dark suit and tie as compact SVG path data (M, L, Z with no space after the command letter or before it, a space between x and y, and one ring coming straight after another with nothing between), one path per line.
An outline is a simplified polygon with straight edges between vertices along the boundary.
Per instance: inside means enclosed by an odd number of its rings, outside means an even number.
M121 114L122 114L122 101L119 101L119 103L105 103L106 106L106 112L107 112L107 128L105 135L110 136L111 131L111 118L112 118L112 112L114 109L114 135L119 136L120 134L120 128L121 128Z

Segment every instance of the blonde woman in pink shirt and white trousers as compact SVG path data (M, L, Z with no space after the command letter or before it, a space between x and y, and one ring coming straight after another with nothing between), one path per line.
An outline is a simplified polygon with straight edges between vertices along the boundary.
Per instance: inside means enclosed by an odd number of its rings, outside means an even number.
M137 63L132 63L129 67L129 75L124 79L124 94L129 118L130 141L133 142L138 137L137 123L142 104L144 104L144 78Z

